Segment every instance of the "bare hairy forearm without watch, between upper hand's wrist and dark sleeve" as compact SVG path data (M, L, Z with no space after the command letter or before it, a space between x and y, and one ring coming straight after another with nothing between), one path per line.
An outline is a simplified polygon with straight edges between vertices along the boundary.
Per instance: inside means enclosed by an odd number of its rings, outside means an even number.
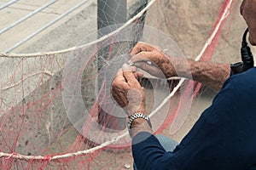
M201 82L209 88L219 90L224 82L230 77L230 65L207 61L187 60L186 65L177 67L178 73L182 77L192 78L196 82ZM192 76L192 77L191 77Z

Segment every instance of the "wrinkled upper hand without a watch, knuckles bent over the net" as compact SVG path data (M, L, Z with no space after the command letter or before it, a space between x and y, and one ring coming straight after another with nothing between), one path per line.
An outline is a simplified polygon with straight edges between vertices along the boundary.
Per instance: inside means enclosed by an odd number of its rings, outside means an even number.
M154 77L169 78L177 77L175 67L179 59L169 57L163 50L145 42L138 42L131 50L131 63ZM151 65L148 65L151 64Z

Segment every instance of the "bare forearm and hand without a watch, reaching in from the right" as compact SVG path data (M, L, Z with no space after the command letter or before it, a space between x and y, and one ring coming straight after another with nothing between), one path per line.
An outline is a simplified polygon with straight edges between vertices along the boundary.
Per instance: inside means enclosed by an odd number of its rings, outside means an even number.
M230 77L230 65L211 61L194 61L165 54L160 48L138 42L131 50L131 63L154 77L185 77L219 90ZM148 65L152 63L152 65Z

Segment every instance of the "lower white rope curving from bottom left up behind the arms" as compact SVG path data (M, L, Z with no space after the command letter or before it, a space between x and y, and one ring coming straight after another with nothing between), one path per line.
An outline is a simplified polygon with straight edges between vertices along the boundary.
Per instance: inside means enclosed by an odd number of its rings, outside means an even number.
M156 0L152 1L152 2L155 2ZM201 51L201 54L199 54L197 56L197 58L201 59L201 56L202 54L206 51L206 46L208 47L209 44L212 42L212 39L213 37L216 36L218 30L219 30L219 27L221 26L221 23L224 21L224 19L228 16L229 14L229 9L230 9L230 5L232 3L232 0L230 0L230 3L227 5L227 8L225 8L224 10L224 14L222 15L221 17L221 20L219 20L218 22L218 25L216 26L216 28L214 29L214 31L212 32L212 35L214 36L211 36L207 42L206 42L206 45L204 48L202 48L202 51ZM148 5L152 5L153 3L148 3ZM137 17L137 16L136 16ZM129 20L130 21L130 20ZM210 40L210 41L209 41ZM196 59L197 59L196 58ZM177 92L177 89L181 87L181 85L183 84L185 78L181 78L180 82L177 84L177 86L173 89L172 93L169 94L169 96L166 97L166 99L162 102L162 104L153 112L151 112L151 114L149 116L153 116L157 111L160 110L160 107L162 107L163 105L166 104L166 102L168 101L168 99L171 99L172 96ZM83 150L83 151L78 151L78 152L74 152L74 153L68 153L68 154L63 154L63 155L60 155L60 156L23 156L23 155L20 155L20 154L17 154L17 153L13 153L13 154L6 154L6 153L3 153L3 152L0 152L0 158L1 157L5 157L6 159L8 158L14 158L14 159L22 159L22 160L49 160L49 161L52 161L52 160L56 160L56 159L61 159L61 158L68 158L68 157L72 157L72 156L82 156L82 155L85 155L85 154L89 154L89 153L93 153L94 151L96 150L100 150L106 146L108 146L109 144L113 144L114 142L116 141L119 141L119 139L122 139L125 137L125 135L127 135L127 133L124 133L124 134L121 134L119 135L117 138L115 139L112 139L112 140L109 140L107 142L104 142L103 144L101 145L98 145L94 148L91 148L90 150Z

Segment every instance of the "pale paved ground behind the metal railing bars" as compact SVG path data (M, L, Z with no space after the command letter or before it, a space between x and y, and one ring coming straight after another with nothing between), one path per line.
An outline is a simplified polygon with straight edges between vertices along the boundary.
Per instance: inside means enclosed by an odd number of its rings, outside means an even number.
M8 0L1 0L0 6L8 2ZM8 7L0 10L1 51L4 52L14 47L18 42L23 41L27 37L31 37L32 34L35 34L45 27L44 31L38 32L35 37L32 37L32 39L29 39L11 52L24 51L32 42L44 37L49 31L54 30L56 27L65 23L65 21L70 20L75 14L78 14L86 6L90 5L91 2L93 2L93 0L20 0L10 4ZM76 6L78 8L75 8ZM69 14L67 14L68 11L70 12ZM27 16L30 17L25 20L24 18ZM14 23L20 24L13 26ZM8 27L9 29L7 29Z

